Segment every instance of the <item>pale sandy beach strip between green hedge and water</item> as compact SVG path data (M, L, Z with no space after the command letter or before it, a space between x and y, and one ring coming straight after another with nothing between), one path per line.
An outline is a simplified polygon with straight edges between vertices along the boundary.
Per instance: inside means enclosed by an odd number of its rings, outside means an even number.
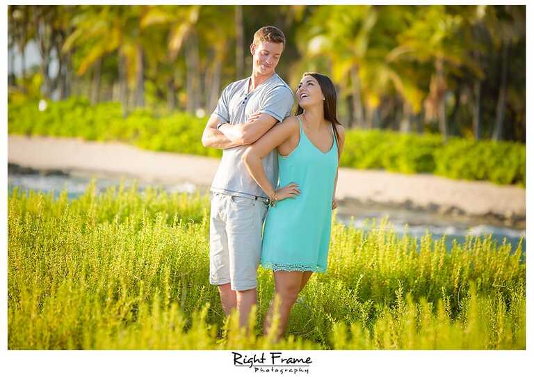
M204 189L211 184L219 160L152 152L123 143L9 135L8 162L35 170L127 176L154 183L191 182ZM337 199L442 214L489 216L512 223L524 222L526 212L525 190L516 186L381 170L340 168Z

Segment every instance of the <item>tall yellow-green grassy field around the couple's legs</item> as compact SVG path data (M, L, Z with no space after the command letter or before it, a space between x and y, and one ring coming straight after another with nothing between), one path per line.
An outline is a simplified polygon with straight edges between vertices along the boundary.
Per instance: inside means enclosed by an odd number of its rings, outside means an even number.
M250 335L208 281L209 198L95 184L8 198L9 349L525 349L521 246L397 236L335 222L326 274L312 276L273 343L259 268Z

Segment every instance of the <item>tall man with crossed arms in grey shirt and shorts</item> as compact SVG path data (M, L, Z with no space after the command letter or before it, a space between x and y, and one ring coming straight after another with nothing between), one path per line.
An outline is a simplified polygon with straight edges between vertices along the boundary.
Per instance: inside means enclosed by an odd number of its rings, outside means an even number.
M274 26L254 33L251 76L223 90L202 134L204 147L223 150L211 184L209 281L217 285L225 313L238 310L241 326L247 325L250 309L257 302L256 274L268 199L241 157L247 145L291 113L293 92L275 72L285 42L284 33ZM256 113L260 114L251 118ZM276 150L262 163L276 186Z

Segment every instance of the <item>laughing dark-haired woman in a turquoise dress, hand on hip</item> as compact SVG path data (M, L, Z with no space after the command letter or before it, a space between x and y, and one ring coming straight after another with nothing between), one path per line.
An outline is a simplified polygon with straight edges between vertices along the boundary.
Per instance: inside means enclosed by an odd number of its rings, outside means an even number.
M312 273L326 271L332 209L337 207L337 169L345 140L336 118L336 91L328 77L305 73L296 96L296 116L275 125L243 154L245 166L271 205L261 265L273 270L275 293L281 299L277 337L284 334L291 307ZM280 189L273 188L261 165L261 158L274 148L278 150ZM273 305L274 300L264 333L270 327Z

